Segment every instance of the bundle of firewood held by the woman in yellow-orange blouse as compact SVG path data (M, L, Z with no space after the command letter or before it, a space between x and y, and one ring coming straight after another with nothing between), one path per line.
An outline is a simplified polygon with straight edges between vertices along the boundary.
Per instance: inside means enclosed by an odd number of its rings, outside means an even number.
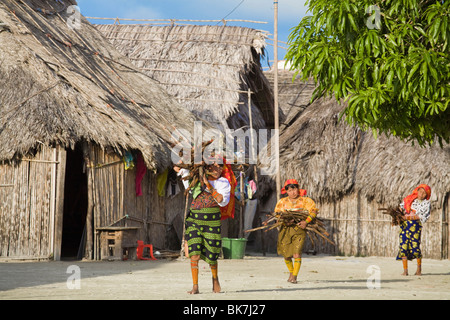
M265 232L272 230L281 226L294 226L301 221L305 221L308 218L309 212L304 209L292 209L286 210L283 212L276 212L268 215L268 219L262 222L261 227L257 227L254 229L245 230L245 232L253 232L256 230L264 230ZM329 237L329 233L325 230L323 221L320 218L314 218L310 223L306 226L306 234L308 238L311 240L312 244L315 245L315 241L318 240L319 236L322 241L327 241L328 243L335 245L333 241L331 241Z

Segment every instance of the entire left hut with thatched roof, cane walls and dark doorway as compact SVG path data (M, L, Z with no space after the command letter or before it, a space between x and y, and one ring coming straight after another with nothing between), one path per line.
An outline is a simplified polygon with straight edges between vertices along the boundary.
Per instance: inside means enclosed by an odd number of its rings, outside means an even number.
M171 165L171 133L197 118L84 17L71 28L70 5L0 3L1 257L59 259L75 225L87 258L99 257L101 227L136 227L164 247L157 174ZM151 171L142 197L138 165L123 165L131 153Z

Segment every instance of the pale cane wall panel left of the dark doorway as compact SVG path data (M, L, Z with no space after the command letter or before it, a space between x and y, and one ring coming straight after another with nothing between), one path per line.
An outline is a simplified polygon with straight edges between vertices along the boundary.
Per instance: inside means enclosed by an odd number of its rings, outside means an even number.
M0 163L0 258L53 254L57 149L17 165Z

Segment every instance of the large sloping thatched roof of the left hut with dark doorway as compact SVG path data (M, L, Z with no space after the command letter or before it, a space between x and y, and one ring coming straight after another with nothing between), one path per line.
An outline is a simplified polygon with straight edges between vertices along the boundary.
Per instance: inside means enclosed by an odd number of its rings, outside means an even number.
M40 144L140 150L151 169L170 164L171 132L195 117L120 54L75 1L0 3L0 160Z

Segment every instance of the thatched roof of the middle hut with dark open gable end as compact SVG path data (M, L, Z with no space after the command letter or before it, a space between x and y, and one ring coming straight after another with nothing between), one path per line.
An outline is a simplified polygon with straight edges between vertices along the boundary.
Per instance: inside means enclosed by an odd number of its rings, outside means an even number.
M273 98L260 57L265 33L230 26L96 25L178 101L221 129L273 127Z

